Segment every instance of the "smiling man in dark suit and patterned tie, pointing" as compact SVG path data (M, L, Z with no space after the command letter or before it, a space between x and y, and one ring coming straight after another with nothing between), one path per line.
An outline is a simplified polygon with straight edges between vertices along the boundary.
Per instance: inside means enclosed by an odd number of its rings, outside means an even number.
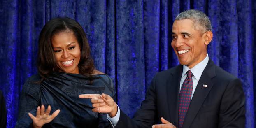
M239 79L208 57L209 18L198 10L180 13L172 26L172 48L179 63L158 72L133 119L109 95L91 98L94 112L108 113L115 128L244 128L244 92ZM161 123L161 124L158 124Z

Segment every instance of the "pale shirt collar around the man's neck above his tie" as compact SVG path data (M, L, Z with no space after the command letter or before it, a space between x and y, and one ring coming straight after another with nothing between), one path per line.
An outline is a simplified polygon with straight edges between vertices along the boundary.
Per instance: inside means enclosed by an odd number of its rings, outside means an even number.
M192 67L191 69L189 69L189 67L187 65L183 65L182 77L184 77L186 72L188 70L190 70L192 72L192 74L194 75L195 79L197 79L199 81L199 79L202 75L202 72L205 70L205 67L206 67L208 61L209 61L209 57L208 57L208 53L207 53L207 56L205 57L205 59L203 61L201 61L200 63L198 63L197 65L195 65L194 67Z

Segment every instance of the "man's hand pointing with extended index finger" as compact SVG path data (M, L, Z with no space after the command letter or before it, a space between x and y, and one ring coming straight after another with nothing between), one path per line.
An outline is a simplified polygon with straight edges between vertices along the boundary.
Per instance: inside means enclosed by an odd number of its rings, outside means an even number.
M108 113L110 117L116 116L117 105L111 96L102 93L99 94L82 94L79 98L91 99L93 112Z

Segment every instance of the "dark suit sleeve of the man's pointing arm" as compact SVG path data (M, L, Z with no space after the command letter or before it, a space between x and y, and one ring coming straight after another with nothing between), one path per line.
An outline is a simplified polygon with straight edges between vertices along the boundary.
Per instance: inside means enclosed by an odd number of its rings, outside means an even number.
M157 75L157 74L156 74ZM157 122L156 107L156 76L147 89L145 100L140 109L135 113L133 119L130 119L124 112L120 111L120 118L115 128L151 128Z

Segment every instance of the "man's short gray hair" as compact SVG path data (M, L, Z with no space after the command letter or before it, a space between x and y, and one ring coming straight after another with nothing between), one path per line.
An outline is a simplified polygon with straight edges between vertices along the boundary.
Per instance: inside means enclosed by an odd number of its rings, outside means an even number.
M195 23L195 29L201 31L201 33L205 33L208 30L212 30L211 21L205 13L199 10L186 10L175 18L175 20L184 20L190 19Z

